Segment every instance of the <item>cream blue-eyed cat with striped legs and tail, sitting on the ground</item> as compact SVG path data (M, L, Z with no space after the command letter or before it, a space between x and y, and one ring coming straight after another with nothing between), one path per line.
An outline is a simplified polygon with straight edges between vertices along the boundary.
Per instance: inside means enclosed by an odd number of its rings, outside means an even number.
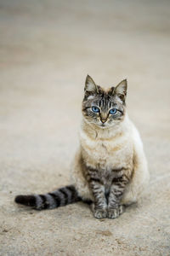
M105 90L88 75L71 185L45 195L17 195L15 202L42 210L85 201L95 218L117 218L136 202L149 172L139 131L127 115L126 96L126 79Z

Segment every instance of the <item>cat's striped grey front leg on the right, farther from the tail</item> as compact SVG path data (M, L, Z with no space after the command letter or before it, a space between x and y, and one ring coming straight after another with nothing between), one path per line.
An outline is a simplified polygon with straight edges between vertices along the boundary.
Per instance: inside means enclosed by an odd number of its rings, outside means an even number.
M108 198L108 218L117 218L125 211L125 207L120 204L120 201L128 180L126 175L113 178Z

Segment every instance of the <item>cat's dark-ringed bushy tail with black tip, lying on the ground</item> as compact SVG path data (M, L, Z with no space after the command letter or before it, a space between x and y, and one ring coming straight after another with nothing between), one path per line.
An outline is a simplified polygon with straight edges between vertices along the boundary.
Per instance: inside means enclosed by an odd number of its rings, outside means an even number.
M37 210L54 209L81 201L77 189L73 185L57 189L45 195L17 195L14 199L17 204L32 207Z

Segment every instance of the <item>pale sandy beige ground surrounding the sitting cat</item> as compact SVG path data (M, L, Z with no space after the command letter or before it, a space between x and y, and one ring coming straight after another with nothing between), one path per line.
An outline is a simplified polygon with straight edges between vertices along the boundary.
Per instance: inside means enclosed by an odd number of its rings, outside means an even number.
M170 2L0 1L0 255L170 255ZM69 183L85 77L128 80L150 186L115 220L14 196Z

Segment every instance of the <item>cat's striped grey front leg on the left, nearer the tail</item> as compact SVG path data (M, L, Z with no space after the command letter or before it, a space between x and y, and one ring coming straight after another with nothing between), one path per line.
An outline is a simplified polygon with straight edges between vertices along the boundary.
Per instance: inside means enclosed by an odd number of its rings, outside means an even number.
M94 195L92 210L95 218L107 218L107 201L105 198L105 186L98 180L91 179L90 187Z

